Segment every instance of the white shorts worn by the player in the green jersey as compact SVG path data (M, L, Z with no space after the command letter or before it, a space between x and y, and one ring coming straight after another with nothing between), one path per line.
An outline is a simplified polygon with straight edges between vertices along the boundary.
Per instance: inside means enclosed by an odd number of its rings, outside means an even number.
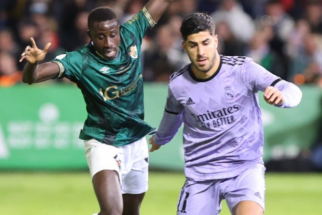
M149 153L145 137L124 146L107 145L95 139L84 143L92 178L101 170L116 170L122 193L140 194L148 190Z

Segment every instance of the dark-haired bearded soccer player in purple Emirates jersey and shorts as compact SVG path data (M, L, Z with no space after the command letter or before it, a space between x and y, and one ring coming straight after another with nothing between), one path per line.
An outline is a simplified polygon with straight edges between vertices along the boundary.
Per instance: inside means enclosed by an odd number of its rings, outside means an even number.
M191 63L170 78L167 103L150 152L168 143L183 123L185 176L177 214L263 214L265 166L258 91L277 107L302 99L296 85L248 57L222 56L212 18L193 13L181 24Z

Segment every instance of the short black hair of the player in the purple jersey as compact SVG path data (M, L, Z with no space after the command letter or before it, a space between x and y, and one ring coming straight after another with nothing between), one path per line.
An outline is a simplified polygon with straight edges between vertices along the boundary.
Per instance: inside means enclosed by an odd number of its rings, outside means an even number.
M191 34L200 31L209 31L211 35L215 34L215 23L213 18L206 13L192 13L182 20L180 32L184 40Z

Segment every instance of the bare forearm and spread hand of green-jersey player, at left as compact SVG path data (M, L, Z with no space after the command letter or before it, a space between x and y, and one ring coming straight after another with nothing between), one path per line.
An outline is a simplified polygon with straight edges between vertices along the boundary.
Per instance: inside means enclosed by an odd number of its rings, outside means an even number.
M59 67L54 62L45 62L40 65L38 63L44 59L51 43L45 45L41 50L36 46L34 38L30 38L32 46L27 46L21 54L19 62L27 60L27 64L22 70L22 81L28 84L37 83L49 79L56 78L59 74Z

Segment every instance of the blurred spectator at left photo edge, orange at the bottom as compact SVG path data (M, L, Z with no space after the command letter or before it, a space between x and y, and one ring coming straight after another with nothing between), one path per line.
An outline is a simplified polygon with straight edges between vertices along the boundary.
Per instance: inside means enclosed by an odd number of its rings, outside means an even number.
M22 80L21 71L17 70L16 57L8 52L0 52L0 87L11 87Z

